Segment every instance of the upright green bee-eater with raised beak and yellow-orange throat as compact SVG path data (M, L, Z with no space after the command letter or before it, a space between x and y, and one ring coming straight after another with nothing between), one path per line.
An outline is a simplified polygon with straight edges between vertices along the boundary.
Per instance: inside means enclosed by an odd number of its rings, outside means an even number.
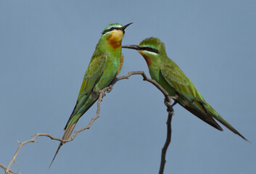
M131 25L129 23L128 25ZM63 140L70 138L76 123L79 118L94 104L99 98L99 90L110 85L123 65L122 40L125 33L125 28L128 25L120 25L118 23L110 24L102 32L102 36L96 45L94 54L87 67L83 77L83 83L78 94L78 99L73 109L70 119L64 130ZM56 157L57 152L54 155ZM52 159L52 162L54 159ZM51 163L52 163L51 162ZM51 166L51 165L50 165Z

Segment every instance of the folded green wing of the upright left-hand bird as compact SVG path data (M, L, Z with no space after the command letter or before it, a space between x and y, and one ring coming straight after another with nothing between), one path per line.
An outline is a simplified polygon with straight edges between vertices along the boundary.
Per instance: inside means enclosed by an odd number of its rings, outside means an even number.
M93 58L94 59L91 60L86 70L86 73L83 76L83 83L78 94L78 100L75 104L72 114L70 115L70 119L67 121L65 129L68 125L70 125L71 120L72 123L75 122L75 120L73 120L73 117L77 115L77 112L80 110L81 107L83 107L83 104L85 104L89 94L91 94L91 91L93 90L94 86L99 81L99 78L101 78L102 76L102 72L107 62L107 54L97 55L97 57Z

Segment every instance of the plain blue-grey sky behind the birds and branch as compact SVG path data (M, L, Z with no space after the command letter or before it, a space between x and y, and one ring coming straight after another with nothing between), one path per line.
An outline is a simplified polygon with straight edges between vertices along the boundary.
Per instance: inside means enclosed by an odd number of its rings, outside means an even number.
M252 144L176 105L165 173L256 173L256 2L0 1L0 162L35 133L62 137L102 30L120 22L124 44L160 38L202 96ZM123 50L120 75L148 69ZM76 129L96 115L91 107ZM22 147L21 173L158 173L167 112L157 88L133 76L116 84L90 130L62 146ZM2 173L2 172L1 172Z

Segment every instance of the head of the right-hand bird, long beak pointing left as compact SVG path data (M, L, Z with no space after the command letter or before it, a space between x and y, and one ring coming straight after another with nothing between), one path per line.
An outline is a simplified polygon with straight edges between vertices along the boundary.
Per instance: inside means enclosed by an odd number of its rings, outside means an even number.
M126 49L136 49L146 60L147 65L152 65L152 62L160 62L162 55L166 55L165 44L159 38L146 38L139 45L122 46Z

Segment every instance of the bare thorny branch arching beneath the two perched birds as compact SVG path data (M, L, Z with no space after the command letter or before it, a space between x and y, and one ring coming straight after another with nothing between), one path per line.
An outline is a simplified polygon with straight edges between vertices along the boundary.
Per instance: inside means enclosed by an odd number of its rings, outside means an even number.
M96 116L95 117L92 117L91 118L91 121L90 123L88 123L88 125L84 128L80 128L79 130L75 130L74 131L74 134L72 137L70 137L68 140L62 140L61 138L56 138L54 136L51 136L50 134L48 133L36 133L35 136L33 136L32 139L28 140L28 141L24 141L22 143L20 143L20 141L17 141L19 146L17 148L17 151L15 152L15 155L12 157L12 160L11 162L9 162L9 165L8 167L5 167L4 165L2 165L0 163L0 167L4 169L5 171L5 174L18 174L18 173L15 173L14 171L10 170L10 167L12 166L13 162L15 162L15 159L17 157L17 154L20 152L20 149L22 146L24 146L25 144L28 144L28 143L35 143L36 142L36 138L38 138L39 136L46 136L46 137L49 137L51 138L52 140L55 140L55 141L60 141L62 142L63 144L67 143L67 142L70 142L70 141L73 141L73 139L75 138L75 136L80 133L81 131L83 130L86 130L86 129L89 129L91 128L91 125L94 123L94 121L100 117L99 115L99 112L100 112L100 104L101 104L101 101L103 99L103 97L106 95L105 93L106 92L110 92L112 91L112 88L113 86L115 86L115 83L117 83L117 81L119 80L123 80L123 79L128 79L130 78L131 75L142 75L143 77L143 80L146 80L148 81L149 83L152 83L154 86L156 86L161 92L162 94L165 96L165 105L167 107L167 111L168 111L168 121L167 121L167 128L168 128L168 133L167 133L167 138L166 138L166 141L165 141L165 146L162 148L162 157L161 157L161 164L160 164L160 173L163 173L163 170L164 170L164 167L165 167L165 154L166 154L166 151L168 149L168 146L170 144L170 138L171 138L171 119L172 119L172 116L173 116L173 105L176 104L172 104L170 105L171 101L170 99L176 99L177 96L169 96L168 95L168 92L165 91L164 88L162 88L162 86L160 86L155 80L152 80L151 78L147 78L146 77L146 74L144 73L144 71L132 71L132 72L128 72L127 75L123 75L123 76L120 76L118 78L115 78L115 80L112 81L112 83L110 83L110 86L107 86L106 88L103 88L102 90L99 91L99 99L97 101L97 110L96 110Z

